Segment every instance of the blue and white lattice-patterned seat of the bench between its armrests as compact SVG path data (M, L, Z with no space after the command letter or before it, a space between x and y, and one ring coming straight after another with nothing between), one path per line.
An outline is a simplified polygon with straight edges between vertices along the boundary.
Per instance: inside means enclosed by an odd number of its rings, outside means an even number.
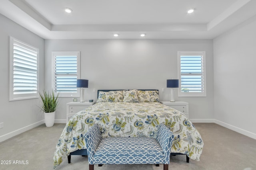
M170 148L169 148L170 149ZM94 152L94 164L164 164L164 153L154 138L102 138Z

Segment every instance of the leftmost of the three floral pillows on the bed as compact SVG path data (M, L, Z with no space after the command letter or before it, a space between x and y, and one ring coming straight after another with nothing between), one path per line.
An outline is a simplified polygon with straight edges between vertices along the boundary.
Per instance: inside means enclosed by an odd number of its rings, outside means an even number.
M122 90L103 92L99 91L98 102L123 102L124 95Z

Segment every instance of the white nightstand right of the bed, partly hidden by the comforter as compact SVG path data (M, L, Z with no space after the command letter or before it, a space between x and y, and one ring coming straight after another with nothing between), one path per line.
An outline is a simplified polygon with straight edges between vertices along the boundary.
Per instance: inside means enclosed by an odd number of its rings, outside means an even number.
M188 103L187 102L182 102L182 101L175 101L175 102L170 102L170 101L161 101L161 104L164 104L166 106L172 107L186 115L188 117ZM189 118L189 117L188 117Z

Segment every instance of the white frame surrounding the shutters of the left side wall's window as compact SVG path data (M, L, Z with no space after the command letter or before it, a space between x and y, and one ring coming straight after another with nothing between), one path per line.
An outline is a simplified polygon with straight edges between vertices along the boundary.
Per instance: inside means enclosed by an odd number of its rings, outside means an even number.
M27 43L24 43L23 41L20 41L14 37L9 38L10 40L10 53L9 53L9 101L15 101L15 100L26 100L26 99L33 99L38 98L38 90L39 90L39 49L29 45ZM27 46L29 49L34 49L36 51L36 92L35 93L29 93L29 94L14 94L14 41L16 41L19 44L23 44L24 48Z

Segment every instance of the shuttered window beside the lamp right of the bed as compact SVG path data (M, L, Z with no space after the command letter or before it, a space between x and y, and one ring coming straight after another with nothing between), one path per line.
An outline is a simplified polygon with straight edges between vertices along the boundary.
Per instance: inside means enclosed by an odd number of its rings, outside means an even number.
M178 51L178 96L206 96L205 51Z

